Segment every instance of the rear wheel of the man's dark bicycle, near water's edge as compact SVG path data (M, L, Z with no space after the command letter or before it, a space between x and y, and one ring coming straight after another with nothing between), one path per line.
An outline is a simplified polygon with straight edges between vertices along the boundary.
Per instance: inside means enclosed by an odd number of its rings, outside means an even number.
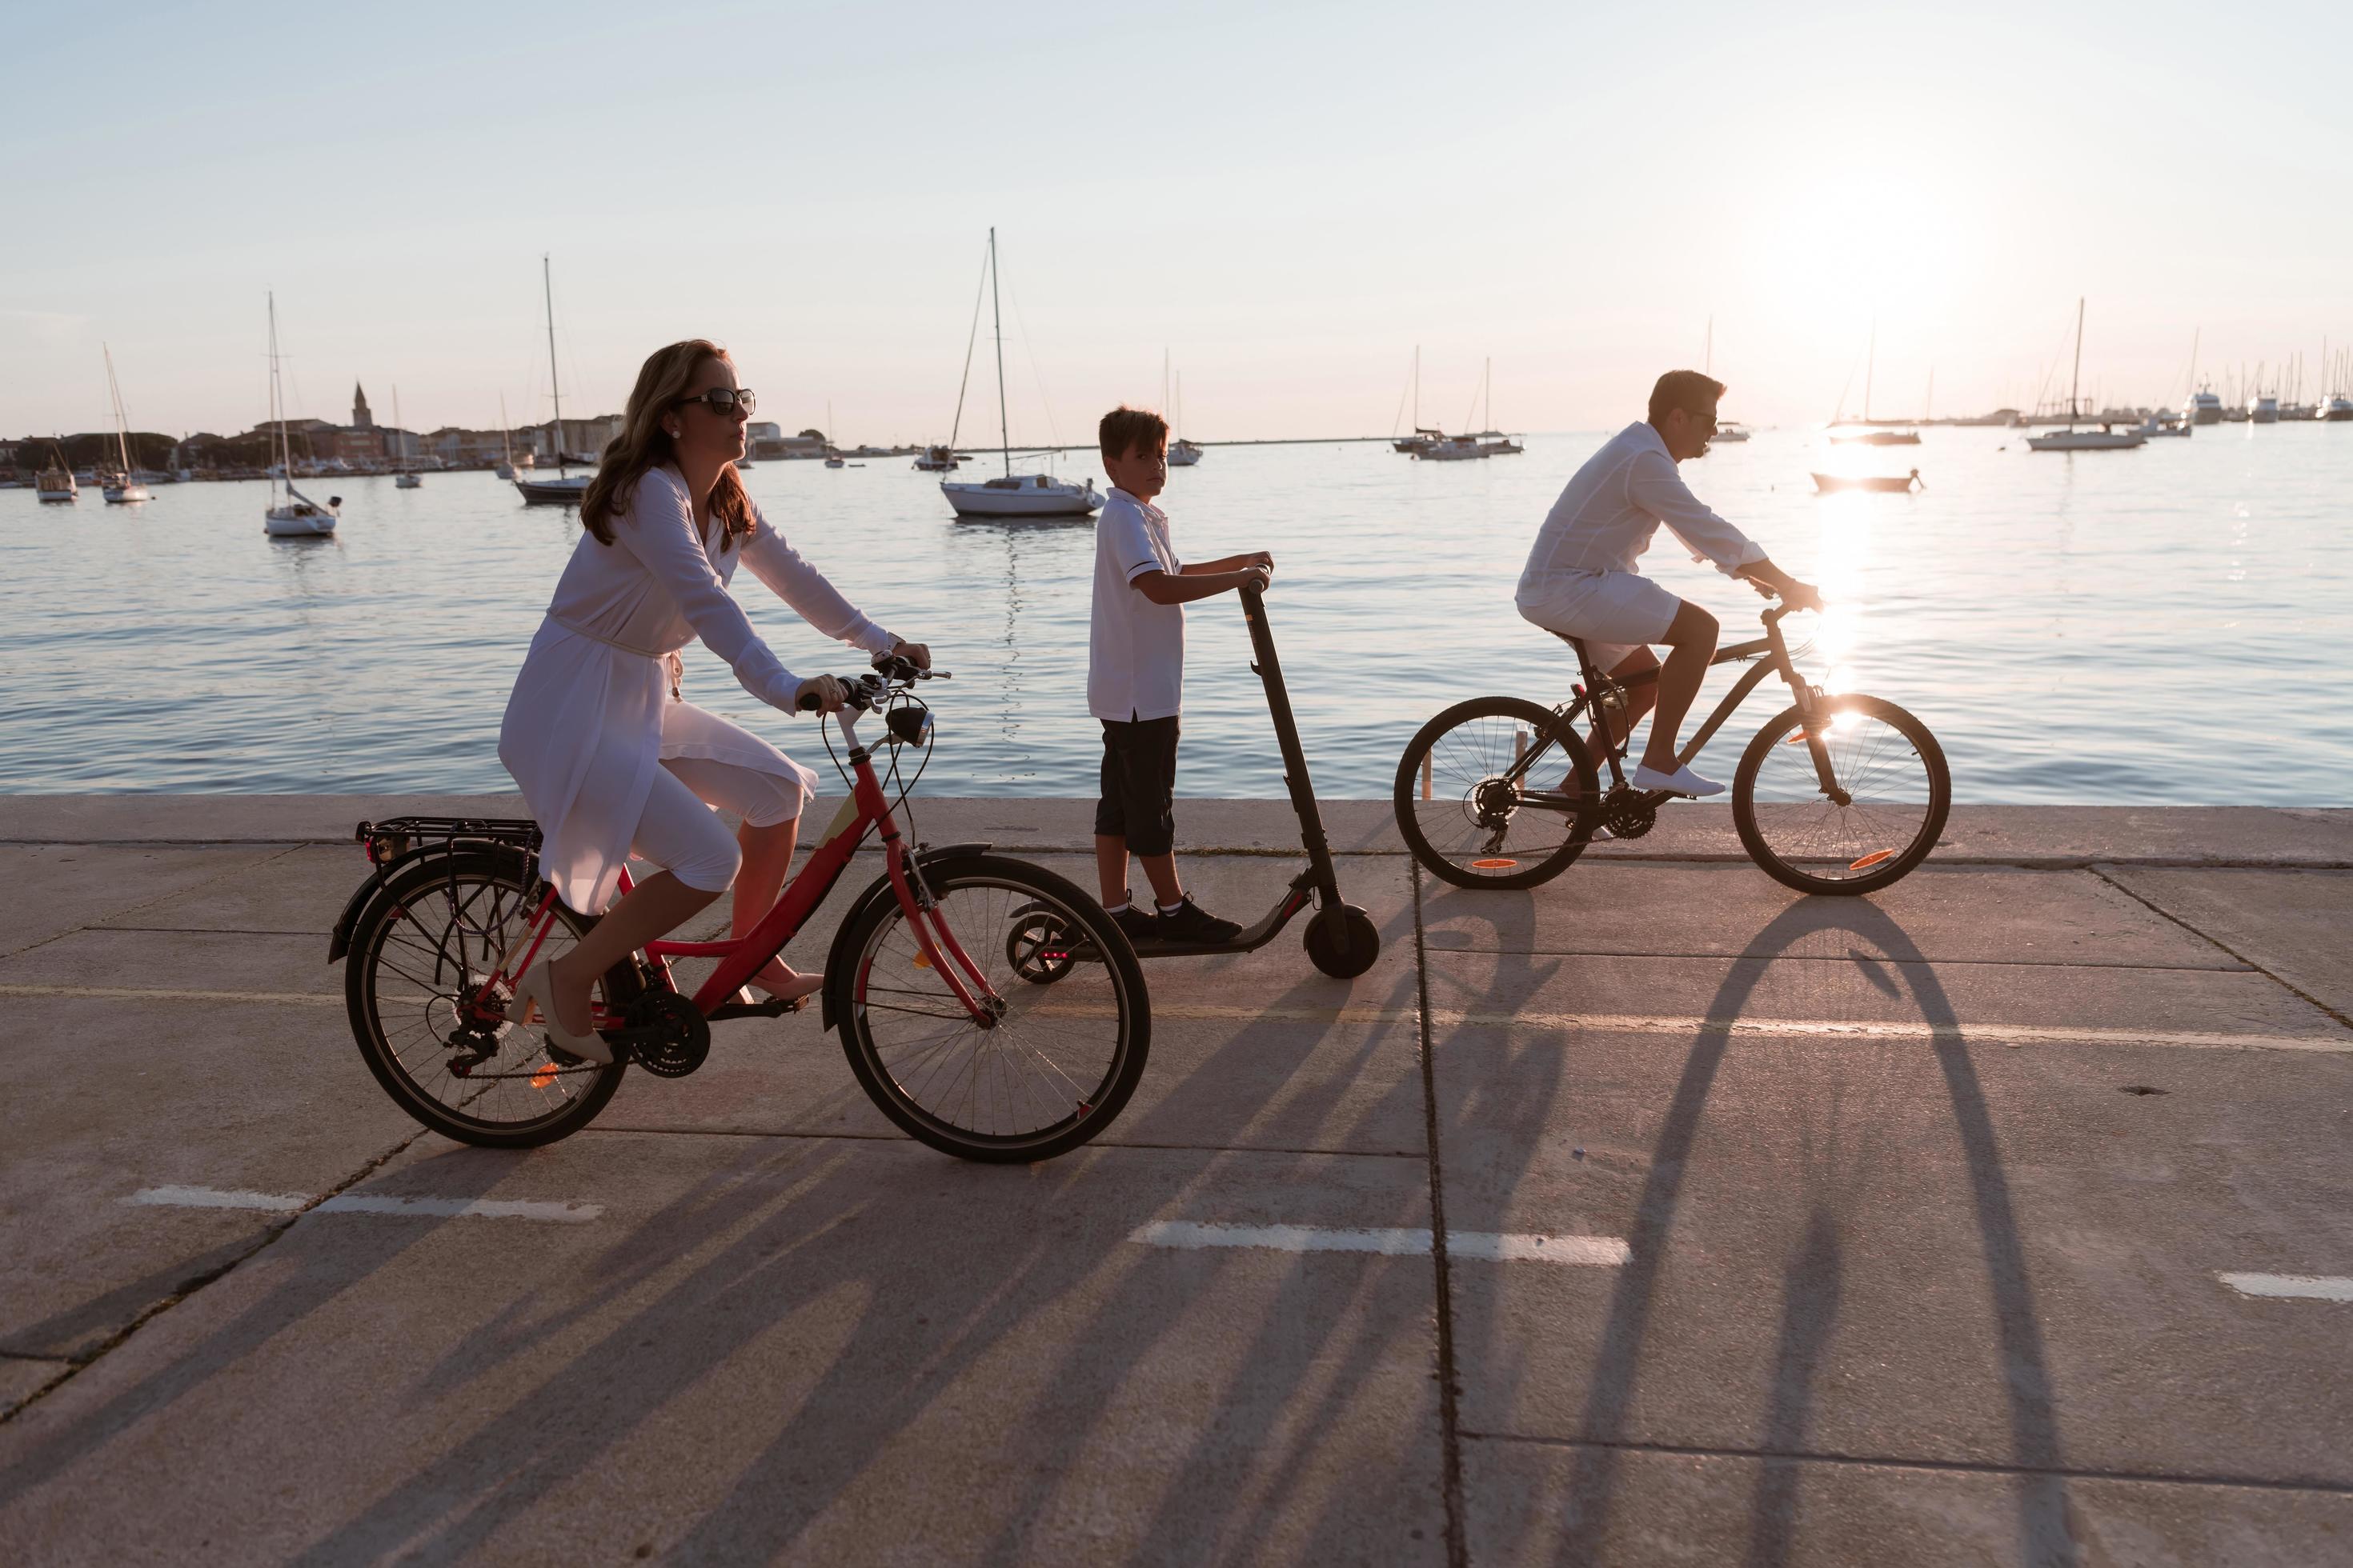
M1522 755L1527 766L1513 776ZM1393 797L1398 832L1433 877L1529 889L1584 853L1600 790L1584 738L1551 708L1478 696L1407 741Z

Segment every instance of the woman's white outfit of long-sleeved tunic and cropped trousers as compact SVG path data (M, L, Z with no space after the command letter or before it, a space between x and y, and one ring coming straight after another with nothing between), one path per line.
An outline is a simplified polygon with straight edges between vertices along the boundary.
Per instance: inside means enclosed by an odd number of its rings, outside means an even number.
M515 677L499 726L499 762L539 820L539 863L558 898L600 912L664 757L704 757L793 778L802 797L816 773L767 741L694 703L671 701L668 656L696 637L744 689L793 712L798 675L760 642L727 592L751 567L809 625L868 654L892 635L856 611L753 510L751 538L706 550L685 480L649 470L609 545L581 529L548 616Z

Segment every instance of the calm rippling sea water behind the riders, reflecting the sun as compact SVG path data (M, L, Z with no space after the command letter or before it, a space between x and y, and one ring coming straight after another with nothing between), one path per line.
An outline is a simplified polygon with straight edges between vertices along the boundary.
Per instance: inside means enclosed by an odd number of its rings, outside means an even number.
M1831 616L1786 623L1807 679L1920 715L1962 802L2353 802L2353 425L2209 425L2087 454L2021 437L1833 449L1765 430L1682 475L1826 588ZM1461 698L1567 698L1574 661L1520 621L1513 581L1600 442L1539 435L1473 463L1384 442L1212 447L1169 475L1181 557L1275 555L1268 623L1320 795L1386 797L1407 736ZM1054 468L1104 484L1092 451ZM1925 489L1817 496L1809 473L1831 468L1918 468ZM904 456L744 480L859 609L955 672L925 689L925 792L1096 792L1089 524L958 522ZM487 473L306 491L344 496L334 538L266 538L259 482L155 487L146 505L0 491L0 790L511 790L499 715L576 517ZM1642 569L1708 607L1725 642L1758 635L1762 599L1664 529ZM861 665L748 571L736 597L791 670ZM1727 682L1718 670L1697 712ZM812 719L760 705L699 644L687 693L828 766ZM1753 693L1701 771L1729 778L1784 703L1779 682ZM1179 792L1282 792L1233 597L1186 609Z

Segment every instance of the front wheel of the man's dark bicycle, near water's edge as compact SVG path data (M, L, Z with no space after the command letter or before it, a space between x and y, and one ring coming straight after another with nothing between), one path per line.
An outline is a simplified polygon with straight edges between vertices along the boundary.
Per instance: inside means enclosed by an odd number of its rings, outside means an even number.
M1927 724L1875 696L1819 705L1831 785L1814 771L1805 717L1786 708L1732 776L1732 825L1748 858L1800 893L1873 893L1937 849L1953 773Z

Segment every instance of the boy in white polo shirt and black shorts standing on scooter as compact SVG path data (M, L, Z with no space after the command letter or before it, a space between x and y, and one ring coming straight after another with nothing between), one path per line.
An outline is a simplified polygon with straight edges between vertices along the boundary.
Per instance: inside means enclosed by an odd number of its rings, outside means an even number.
M1184 607L1275 576L1266 550L1186 567L1153 496L1167 484L1169 425L1120 404L1096 430L1111 498L1094 524L1094 616L1087 712L1104 724L1104 797L1094 806L1094 870L1104 910L1129 940L1231 943L1242 929L1193 903L1176 879L1176 712L1184 693ZM1153 910L1127 891L1144 860Z

